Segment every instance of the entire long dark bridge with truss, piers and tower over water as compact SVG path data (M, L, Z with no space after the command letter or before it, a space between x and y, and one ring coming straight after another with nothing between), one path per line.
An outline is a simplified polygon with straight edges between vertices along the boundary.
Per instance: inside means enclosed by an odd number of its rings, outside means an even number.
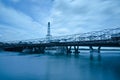
M49 22L46 38L0 43L0 47L6 51L23 52L30 50L33 53L45 53L47 50L55 49L70 54L73 48L74 53L79 54L80 46L88 46L90 52L94 51L93 47L98 47L98 53L100 53L101 47L120 47L120 28L65 36L51 36Z

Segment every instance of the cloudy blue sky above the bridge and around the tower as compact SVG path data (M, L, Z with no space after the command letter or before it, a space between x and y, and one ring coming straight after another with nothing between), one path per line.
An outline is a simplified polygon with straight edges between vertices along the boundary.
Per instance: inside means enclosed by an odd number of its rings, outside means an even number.
M0 41L120 27L120 0L0 0Z

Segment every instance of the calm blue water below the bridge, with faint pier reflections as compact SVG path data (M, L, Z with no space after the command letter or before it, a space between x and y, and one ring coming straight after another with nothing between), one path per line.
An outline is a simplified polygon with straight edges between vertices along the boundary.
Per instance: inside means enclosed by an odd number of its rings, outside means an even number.
M0 52L0 80L120 80L120 52L79 56Z

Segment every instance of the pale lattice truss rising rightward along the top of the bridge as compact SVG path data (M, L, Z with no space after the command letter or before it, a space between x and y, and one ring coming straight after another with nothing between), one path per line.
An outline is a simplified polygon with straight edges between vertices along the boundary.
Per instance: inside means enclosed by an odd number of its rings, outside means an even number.
M73 35L65 36L56 36L52 37L50 41L47 38L38 38L30 40L21 40L21 41L9 41L7 43L17 43L17 44L40 44L40 43L49 43L49 42L71 42L71 41L93 41L93 40L108 40L111 39L112 35L120 34L120 28L115 29L104 29L101 31L79 33Z

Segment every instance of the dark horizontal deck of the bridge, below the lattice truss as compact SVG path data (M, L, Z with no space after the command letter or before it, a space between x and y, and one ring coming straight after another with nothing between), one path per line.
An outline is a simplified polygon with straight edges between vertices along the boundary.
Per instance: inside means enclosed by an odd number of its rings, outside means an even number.
M39 44L8 44L4 48L14 47L53 47L53 46L101 46L101 47L120 47L120 41L94 40L94 41L75 41L75 42L49 42Z

